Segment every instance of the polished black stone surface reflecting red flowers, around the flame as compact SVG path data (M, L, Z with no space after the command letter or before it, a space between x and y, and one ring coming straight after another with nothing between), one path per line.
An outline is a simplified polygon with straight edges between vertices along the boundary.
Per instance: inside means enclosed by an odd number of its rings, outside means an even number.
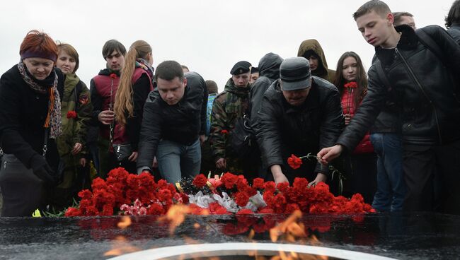
M285 215L196 216L170 232L157 217L0 218L0 259L108 259L181 244L272 242ZM123 222L124 223L124 222ZM394 259L460 259L460 216L439 213L304 215L304 232L277 243L347 249ZM172 234L172 235L171 235ZM295 242L292 242L295 241Z

